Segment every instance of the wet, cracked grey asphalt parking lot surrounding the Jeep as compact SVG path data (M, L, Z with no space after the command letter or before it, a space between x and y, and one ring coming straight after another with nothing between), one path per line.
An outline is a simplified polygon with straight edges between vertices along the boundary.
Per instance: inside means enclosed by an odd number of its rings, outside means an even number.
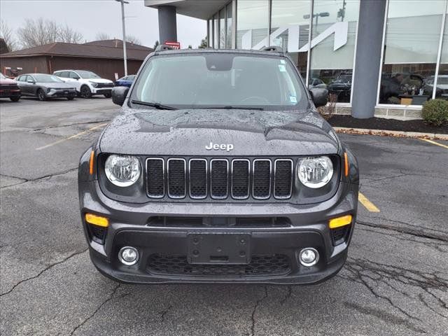
M341 136L365 205L329 281L130 286L94 269L78 213L78 159L117 106L22 99L0 113L1 335L448 335L448 148Z

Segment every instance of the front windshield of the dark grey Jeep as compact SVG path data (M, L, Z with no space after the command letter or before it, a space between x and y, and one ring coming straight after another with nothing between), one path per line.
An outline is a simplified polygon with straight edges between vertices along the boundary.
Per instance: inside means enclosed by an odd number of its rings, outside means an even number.
M161 55L144 66L131 101L176 108L297 109L307 95L286 57L235 53Z

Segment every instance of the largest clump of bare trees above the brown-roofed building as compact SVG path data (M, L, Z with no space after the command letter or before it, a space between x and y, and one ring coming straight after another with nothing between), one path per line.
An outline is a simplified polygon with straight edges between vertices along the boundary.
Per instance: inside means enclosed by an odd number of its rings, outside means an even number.
M23 48L32 48L55 42L78 43L83 36L69 26L60 26L52 20L26 19L25 25L18 29L18 36Z

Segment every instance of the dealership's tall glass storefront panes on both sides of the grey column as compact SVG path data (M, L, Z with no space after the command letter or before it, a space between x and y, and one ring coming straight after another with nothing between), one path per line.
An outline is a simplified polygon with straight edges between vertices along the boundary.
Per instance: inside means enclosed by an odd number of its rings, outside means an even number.
M372 83L378 104L421 105L433 94L448 99L448 22L440 43L447 3L387 1L381 78ZM230 1L209 20L210 42L214 48L281 46L309 87L326 87L337 102L350 103L359 10L360 0Z

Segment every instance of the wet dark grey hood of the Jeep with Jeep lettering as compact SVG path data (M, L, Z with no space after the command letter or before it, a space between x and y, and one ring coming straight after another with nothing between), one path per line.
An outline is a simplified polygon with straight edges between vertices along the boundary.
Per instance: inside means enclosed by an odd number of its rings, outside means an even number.
M337 153L338 150L332 128L313 112L225 109L128 111L132 113L116 117L104 130L100 142L102 152L279 156L323 155ZM219 149L207 150L206 146L210 148L214 144L218 144Z

